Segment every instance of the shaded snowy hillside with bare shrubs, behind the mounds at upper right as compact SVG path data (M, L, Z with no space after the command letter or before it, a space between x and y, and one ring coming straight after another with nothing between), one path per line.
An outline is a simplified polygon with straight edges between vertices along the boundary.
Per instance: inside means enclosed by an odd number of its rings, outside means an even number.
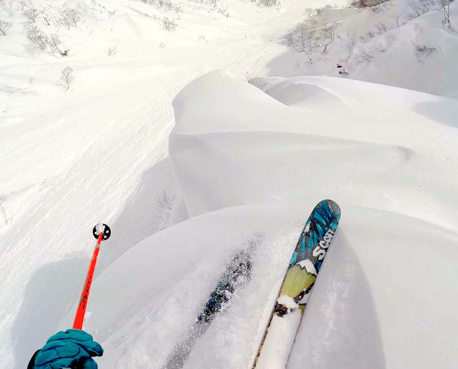
M430 12L412 21L409 2L389 1L371 9L335 9L326 7L321 15L307 20L337 25L335 40L322 54L314 53L313 64L304 53L289 50L273 59L265 69L268 76L330 76L380 83L423 91L430 94L458 98L458 3L450 5L450 27L443 25L443 12L432 8ZM437 9L437 10L434 10ZM396 23L397 19L397 23ZM385 30L377 29L384 26ZM372 35L369 35L369 32ZM352 44L353 42L353 44ZM326 42L327 43L327 42ZM429 47L429 56L418 57L415 47ZM365 52L370 58L361 59ZM337 68L341 65L342 68Z

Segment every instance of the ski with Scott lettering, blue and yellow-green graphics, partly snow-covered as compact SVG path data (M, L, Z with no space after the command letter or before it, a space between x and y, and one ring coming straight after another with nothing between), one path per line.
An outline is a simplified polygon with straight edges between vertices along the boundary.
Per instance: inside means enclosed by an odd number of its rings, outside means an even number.
M305 305L340 219L332 200L321 201L310 214L285 273L252 368L284 369Z

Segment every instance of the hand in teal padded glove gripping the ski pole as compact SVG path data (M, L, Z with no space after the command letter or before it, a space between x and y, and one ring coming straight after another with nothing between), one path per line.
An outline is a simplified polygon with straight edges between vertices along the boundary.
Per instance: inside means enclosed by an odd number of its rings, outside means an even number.
M67 329L51 336L35 357L33 369L97 369L93 356L102 356L103 348L80 329Z

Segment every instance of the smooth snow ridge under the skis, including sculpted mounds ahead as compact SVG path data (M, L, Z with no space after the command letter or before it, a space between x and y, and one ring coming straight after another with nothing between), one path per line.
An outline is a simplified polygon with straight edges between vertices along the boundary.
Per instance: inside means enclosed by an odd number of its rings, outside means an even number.
M263 234L250 283L185 365L248 367L323 198L339 203L341 222L288 368L454 367L456 104L358 81L276 82L268 96L216 71L174 100L177 211L191 218L144 239L94 283L85 326L103 341L101 367L161 367L231 252ZM416 109L430 103L428 115Z

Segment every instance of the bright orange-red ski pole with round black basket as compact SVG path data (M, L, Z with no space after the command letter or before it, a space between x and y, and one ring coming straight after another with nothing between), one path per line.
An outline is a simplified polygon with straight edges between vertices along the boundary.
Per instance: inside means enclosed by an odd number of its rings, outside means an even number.
M73 327L75 329L83 328L84 313L86 312L87 299L89 298L90 285L94 276L94 270L96 269L97 256L99 255L100 243L108 239L111 235L111 230L106 224L98 224L93 229L94 237L97 238L97 244L90 260L89 269L87 270L86 280L84 281L83 291L81 292L80 302L77 307L75 320Z

